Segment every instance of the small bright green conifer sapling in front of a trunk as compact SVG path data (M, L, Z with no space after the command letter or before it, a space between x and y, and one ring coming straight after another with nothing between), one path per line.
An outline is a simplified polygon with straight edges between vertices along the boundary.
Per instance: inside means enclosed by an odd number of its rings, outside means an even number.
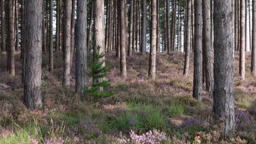
M111 69L111 67L109 66L110 61L106 64L106 66L103 66L103 63L105 62L105 60L98 62L99 59L105 57L104 53L99 53L100 51L100 46L97 47L97 50L95 52L95 61L90 61L90 57L89 57L89 61L88 61L88 67L90 68L89 73L86 73L87 76L92 77L93 81L92 81L92 87L91 89L89 89L88 86L86 86L86 89L83 89L86 93L91 94L94 98L107 98L107 97L111 97L112 95L114 95L114 92L110 92L110 91L99 91L99 87L109 87L110 86L110 79L108 79L108 81L105 81L103 79L102 82L95 82L95 80L97 78L104 78L107 76L107 72Z

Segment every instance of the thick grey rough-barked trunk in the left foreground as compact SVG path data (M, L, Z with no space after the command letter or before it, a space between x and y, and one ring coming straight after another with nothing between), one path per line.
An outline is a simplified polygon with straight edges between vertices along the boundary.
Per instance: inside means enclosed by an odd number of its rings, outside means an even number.
M30 110L42 107L42 19L42 1L27 1L24 103Z

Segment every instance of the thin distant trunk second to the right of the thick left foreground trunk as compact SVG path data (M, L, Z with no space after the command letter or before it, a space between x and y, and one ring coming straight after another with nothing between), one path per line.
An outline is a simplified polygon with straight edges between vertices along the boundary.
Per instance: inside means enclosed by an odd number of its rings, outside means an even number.
M56 41L55 41L55 51L59 51L59 41L60 41L60 0L57 0L57 15L56 15Z

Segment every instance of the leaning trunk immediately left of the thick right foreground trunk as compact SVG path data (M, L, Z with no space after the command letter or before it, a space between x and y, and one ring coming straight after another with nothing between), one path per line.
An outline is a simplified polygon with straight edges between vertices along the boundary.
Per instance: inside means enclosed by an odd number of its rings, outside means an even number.
M203 51L205 62L206 91L213 92L213 71L210 35L210 1L203 0Z

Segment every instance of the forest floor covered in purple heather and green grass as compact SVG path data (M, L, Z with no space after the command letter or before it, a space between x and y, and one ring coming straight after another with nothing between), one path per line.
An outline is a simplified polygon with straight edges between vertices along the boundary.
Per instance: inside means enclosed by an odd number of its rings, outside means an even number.
M89 55L92 55L91 53ZM203 101L192 97L193 59L183 76L185 53L157 53L156 80L148 77L149 54L127 57L127 78L120 76L119 59L106 53L112 67L107 75L116 94L83 100L75 94L75 58L71 85L62 87L62 53L42 57L43 107L29 111L23 105L22 61L15 53L15 76L10 76L6 53L0 54L0 143L255 143L256 77L250 75L251 53L246 52L245 81L239 77L239 53L234 58L235 129L222 140L223 119L214 120L213 95L203 87ZM74 56L75 57L75 56ZM87 84L92 78L87 77ZM154 141L154 142L150 142Z

